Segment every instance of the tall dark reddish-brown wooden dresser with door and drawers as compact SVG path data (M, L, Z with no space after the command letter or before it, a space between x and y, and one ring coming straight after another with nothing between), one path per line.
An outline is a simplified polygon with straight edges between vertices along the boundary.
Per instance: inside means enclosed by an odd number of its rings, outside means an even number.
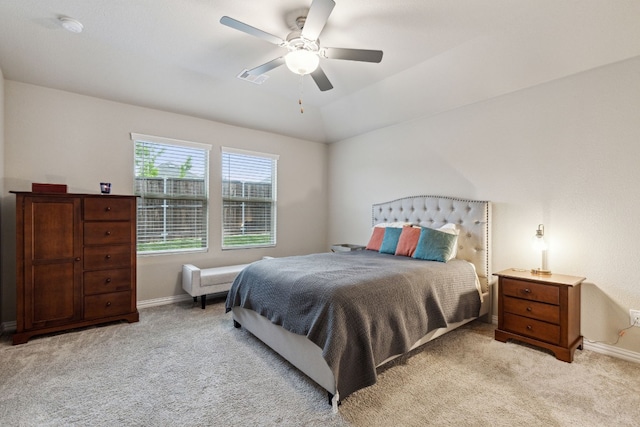
M34 335L137 322L136 197L16 195L17 330Z

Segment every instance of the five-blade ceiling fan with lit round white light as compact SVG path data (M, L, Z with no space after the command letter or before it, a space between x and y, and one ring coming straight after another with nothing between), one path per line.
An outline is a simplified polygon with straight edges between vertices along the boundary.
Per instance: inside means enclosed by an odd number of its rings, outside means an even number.
M326 91L333 89L333 85L320 67L320 58L375 63L382 61L381 50L320 46L318 37L335 5L334 0L313 0L307 16L300 16L296 19L295 25L297 29L289 33L285 40L228 16L223 16L220 19L220 23L268 41L269 43L284 47L289 51L283 56L248 70L247 73L249 75L259 76L282 64L286 64L287 67L296 74L301 76L311 74L318 88L321 91Z

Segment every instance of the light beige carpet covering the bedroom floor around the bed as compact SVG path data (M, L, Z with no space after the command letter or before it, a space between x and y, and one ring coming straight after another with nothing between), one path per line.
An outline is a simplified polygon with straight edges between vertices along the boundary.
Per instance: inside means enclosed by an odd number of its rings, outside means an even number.
M0 340L2 426L639 426L640 365L574 363L493 340L481 322L380 372L333 414L326 392L244 330L223 303Z

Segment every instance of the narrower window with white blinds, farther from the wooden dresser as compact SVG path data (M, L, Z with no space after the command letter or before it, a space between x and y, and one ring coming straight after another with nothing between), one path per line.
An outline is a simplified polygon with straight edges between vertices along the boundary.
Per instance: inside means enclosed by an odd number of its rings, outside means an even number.
M275 246L277 162L222 148L222 249Z

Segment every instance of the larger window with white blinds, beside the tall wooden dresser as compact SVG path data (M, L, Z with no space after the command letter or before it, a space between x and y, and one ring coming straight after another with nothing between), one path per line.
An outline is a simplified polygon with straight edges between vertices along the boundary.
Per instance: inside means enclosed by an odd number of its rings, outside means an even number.
M131 134L138 253L207 249L210 146Z

